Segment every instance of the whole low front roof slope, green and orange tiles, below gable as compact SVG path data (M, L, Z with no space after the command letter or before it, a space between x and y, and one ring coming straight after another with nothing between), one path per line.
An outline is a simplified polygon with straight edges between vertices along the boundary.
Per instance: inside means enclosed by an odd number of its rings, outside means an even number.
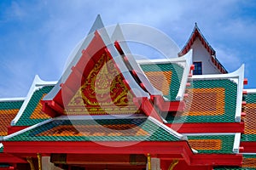
M6 141L177 141L180 137L151 119L53 119ZM178 133L177 133L178 134ZM180 135L180 134L179 134Z

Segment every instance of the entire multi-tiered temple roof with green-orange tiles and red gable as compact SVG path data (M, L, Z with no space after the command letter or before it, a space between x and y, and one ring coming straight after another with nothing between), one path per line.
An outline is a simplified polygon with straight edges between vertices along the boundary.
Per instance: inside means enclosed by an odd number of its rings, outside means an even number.
M195 36L215 54L195 26L184 56L136 60L120 27L109 37L98 16L58 82L35 77L25 99L0 102L12 116L0 126L0 152L152 154L163 169L177 160L178 168L253 168L256 90L243 90L243 65L230 74L192 76Z

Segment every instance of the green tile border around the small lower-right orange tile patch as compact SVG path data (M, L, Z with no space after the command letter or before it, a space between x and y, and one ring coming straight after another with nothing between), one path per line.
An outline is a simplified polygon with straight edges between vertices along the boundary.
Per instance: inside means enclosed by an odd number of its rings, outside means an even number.
M200 154L233 154L233 144L235 134L230 135L204 135L204 136L188 136L189 140L207 140L207 139L219 139L222 140L220 150L197 150ZM196 149L195 149L196 150Z

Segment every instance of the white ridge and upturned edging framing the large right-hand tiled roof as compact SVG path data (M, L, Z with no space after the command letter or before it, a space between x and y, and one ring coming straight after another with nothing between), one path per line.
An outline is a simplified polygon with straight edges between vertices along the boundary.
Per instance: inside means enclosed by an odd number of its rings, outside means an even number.
M241 102L242 102L242 90L244 81L244 65L229 74L212 74L212 75L195 75L189 78L190 81L193 80L223 80L230 79L237 83L236 90L236 115L235 122L241 122Z

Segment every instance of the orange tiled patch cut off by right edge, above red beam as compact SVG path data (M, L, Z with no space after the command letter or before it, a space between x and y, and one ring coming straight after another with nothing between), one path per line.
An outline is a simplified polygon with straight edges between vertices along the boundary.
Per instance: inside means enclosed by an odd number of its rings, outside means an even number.
M256 134L256 104L247 104L245 107L247 116L244 117L246 134Z

